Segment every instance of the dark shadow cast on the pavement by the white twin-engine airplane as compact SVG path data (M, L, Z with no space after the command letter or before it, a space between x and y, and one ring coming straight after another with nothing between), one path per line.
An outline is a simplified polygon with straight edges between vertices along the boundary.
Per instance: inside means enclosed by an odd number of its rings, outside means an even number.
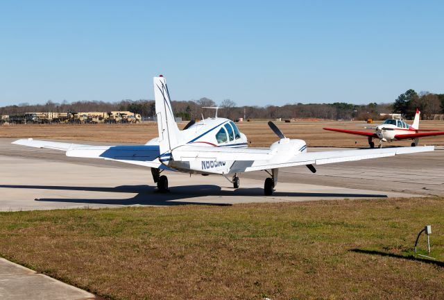
M155 205L155 206L177 206L177 205L216 205L230 206L222 197L264 197L262 188L238 188L237 190L221 190L218 185L187 185L169 188L168 192L158 192L155 186L150 185L121 185L114 188L105 187L82 187L82 186L60 186L60 185L0 185L0 188L30 189L30 190L69 190L83 192L112 192L131 193L135 197L128 199L65 199L65 198L42 198L35 201L65 202L65 203L89 203L89 204L111 204L111 205ZM221 197L221 201L178 201L197 197L214 196ZM273 192L275 197L325 197L325 198L386 198L385 194L353 194L353 193L321 193L321 192Z

